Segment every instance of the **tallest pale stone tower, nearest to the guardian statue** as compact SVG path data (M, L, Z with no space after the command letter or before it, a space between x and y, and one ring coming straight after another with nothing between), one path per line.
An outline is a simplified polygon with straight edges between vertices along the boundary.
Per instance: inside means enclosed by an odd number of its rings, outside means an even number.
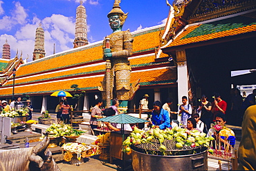
M82 0L80 1L80 6L78 6L76 9L75 40L73 44L74 44L74 48L88 45L86 10L84 6L82 6Z

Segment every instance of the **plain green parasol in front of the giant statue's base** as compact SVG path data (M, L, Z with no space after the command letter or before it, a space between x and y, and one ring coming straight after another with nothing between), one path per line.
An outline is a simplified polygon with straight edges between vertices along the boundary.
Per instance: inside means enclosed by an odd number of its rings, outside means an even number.
M145 119L140 119L136 117L129 116L128 114L118 114L111 117L105 117L102 119L98 119L97 121L103 121L103 122L111 122L111 123L145 123L148 122Z

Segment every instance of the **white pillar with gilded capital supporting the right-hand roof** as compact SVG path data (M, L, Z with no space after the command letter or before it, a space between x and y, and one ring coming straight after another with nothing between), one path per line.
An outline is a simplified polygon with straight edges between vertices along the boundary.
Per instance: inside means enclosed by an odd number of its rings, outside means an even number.
M176 63L178 74L178 103L182 104L181 98L183 96L188 97L188 68L185 50L176 51ZM177 119L181 123L181 116L178 115Z

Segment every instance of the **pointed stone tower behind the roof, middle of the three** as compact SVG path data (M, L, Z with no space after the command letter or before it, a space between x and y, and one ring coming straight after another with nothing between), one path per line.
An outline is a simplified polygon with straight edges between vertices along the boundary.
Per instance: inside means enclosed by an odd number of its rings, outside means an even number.
M44 29L41 27L42 24L39 23L39 27L35 31L35 49L33 52L33 60L44 58L46 52L44 51Z

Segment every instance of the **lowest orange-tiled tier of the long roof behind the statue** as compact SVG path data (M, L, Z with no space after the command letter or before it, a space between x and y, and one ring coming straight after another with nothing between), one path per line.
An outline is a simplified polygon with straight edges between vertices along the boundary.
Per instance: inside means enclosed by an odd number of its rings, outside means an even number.
M50 81L39 84L28 84L26 86L15 86L15 94L40 94L51 93L56 90L72 91L71 85L79 85L81 90L96 90L100 86L102 77L76 78L72 80ZM176 70L162 68L159 70L147 70L143 72L131 72L131 83L140 79L141 86L152 86L158 84L176 83ZM0 91L0 96L12 94L12 87Z

